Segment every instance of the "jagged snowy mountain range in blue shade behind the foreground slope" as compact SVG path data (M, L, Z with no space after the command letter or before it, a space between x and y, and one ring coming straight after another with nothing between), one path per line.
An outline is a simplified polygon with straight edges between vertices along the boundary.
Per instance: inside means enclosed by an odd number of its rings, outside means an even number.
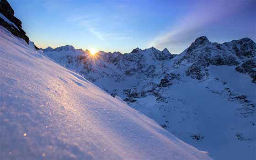
M251 39L219 44L203 36L176 56L153 47L124 54L43 52L211 157L253 159L256 44Z

